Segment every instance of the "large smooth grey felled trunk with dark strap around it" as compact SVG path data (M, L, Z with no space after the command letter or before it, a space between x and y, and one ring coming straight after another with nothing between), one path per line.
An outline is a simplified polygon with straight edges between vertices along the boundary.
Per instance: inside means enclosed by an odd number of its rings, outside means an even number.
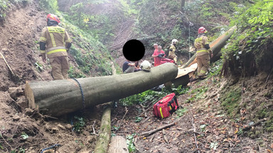
M151 68L151 72L134 72L106 77L26 81L28 107L53 116L96 106L149 90L176 78L173 63Z

